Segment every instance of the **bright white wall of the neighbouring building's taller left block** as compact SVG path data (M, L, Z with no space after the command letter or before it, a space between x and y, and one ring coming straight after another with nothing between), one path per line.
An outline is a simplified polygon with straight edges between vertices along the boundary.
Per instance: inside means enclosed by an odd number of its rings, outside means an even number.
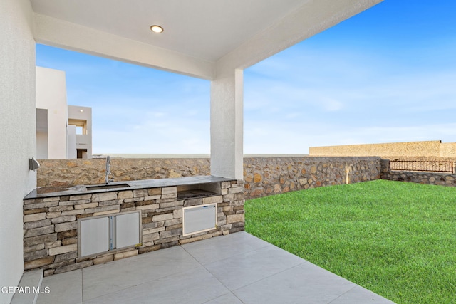
M36 108L48 110L48 158L66 158L66 79L63 70L36 67Z

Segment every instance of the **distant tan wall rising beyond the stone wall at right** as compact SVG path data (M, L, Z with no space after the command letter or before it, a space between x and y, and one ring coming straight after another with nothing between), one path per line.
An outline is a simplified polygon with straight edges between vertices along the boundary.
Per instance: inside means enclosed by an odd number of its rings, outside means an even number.
M440 157L440 140L427 142L393 142L372 145L341 145L328 147L310 147L310 156L349 157ZM446 148L445 151L450 151ZM456 151L456 149L455 149ZM456 157L456 154L445 157Z

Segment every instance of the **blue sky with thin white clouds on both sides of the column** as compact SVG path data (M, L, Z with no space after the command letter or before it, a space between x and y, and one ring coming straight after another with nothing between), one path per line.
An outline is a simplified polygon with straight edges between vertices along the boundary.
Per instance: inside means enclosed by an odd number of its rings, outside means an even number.
M244 70L244 153L456 142L456 1L385 0ZM209 153L207 80L37 45L93 153Z

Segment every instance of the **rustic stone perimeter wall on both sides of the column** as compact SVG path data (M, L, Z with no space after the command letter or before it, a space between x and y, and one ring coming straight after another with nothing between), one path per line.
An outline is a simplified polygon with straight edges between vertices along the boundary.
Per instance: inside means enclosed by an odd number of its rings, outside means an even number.
M38 187L103 184L105 159L43 159ZM210 174L210 160L111 159L115 182ZM245 199L380 179L379 157L246 157Z

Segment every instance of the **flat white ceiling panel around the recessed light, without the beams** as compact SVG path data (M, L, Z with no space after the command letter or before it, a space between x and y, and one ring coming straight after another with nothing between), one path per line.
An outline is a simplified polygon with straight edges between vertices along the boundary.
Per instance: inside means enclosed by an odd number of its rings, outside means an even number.
M38 14L217 61L308 0L32 0ZM150 31L162 26L162 34Z

